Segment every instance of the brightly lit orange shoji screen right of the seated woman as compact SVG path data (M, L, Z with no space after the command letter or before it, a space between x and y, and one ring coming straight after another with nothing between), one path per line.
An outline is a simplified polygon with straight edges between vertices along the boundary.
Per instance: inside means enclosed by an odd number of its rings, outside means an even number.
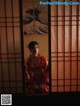
M80 91L80 5L51 5L51 89Z

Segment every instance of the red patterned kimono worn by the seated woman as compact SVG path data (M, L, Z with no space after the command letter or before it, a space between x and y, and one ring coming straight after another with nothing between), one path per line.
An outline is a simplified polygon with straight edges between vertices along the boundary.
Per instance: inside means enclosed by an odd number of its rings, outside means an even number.
M47 59L38 54L30 55L26 62L26 91L27 93L49 92L49 70Z

